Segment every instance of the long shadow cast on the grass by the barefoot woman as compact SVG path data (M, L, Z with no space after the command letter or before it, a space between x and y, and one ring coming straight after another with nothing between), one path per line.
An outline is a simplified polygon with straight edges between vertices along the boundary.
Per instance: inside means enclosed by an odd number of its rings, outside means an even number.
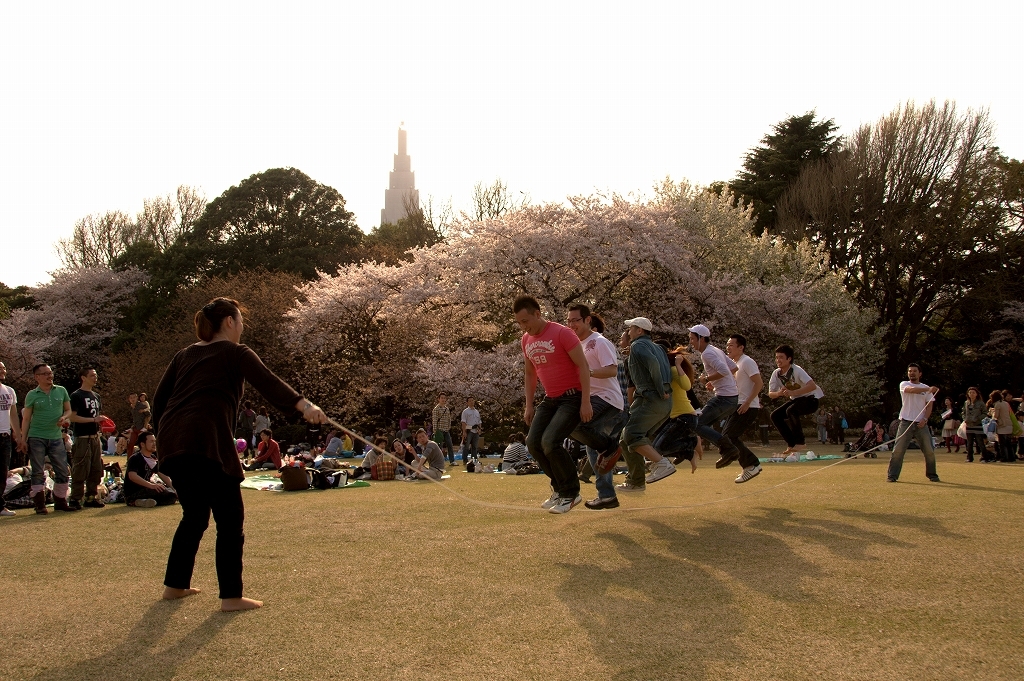
M160 600L150 606L124 640L109 650L74 663L46 669L32 677L33 681L67 681L68 679L145 679L169 681L178 667L191 659L231 620L234 612L214 612L180 640L158 648L167 632L171 618L182 601Z

